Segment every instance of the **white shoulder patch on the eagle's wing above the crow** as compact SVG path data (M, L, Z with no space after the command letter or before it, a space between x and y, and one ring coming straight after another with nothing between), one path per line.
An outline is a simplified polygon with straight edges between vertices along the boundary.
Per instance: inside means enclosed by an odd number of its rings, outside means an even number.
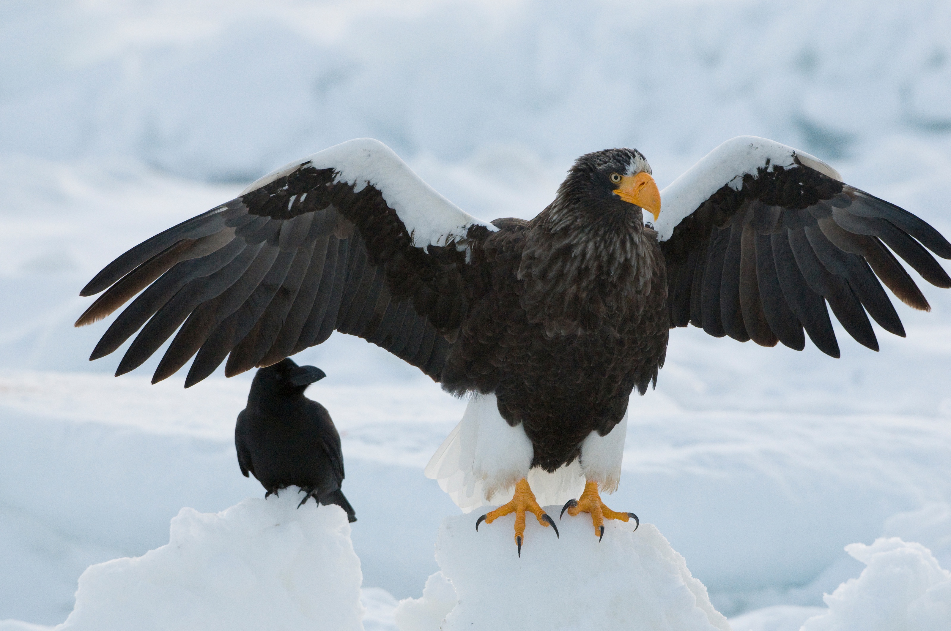
M372 138L336 144L308 158L286 164L253 182L242 191L242 195L274 182L306 163L318 169L334 169L337 173L335 182L347 182L356 192L367 185L376 188L397 212L416 247L445 246L464 240L472 225L481 225L493 232L498 230L444 198L400 160L393 149Z

